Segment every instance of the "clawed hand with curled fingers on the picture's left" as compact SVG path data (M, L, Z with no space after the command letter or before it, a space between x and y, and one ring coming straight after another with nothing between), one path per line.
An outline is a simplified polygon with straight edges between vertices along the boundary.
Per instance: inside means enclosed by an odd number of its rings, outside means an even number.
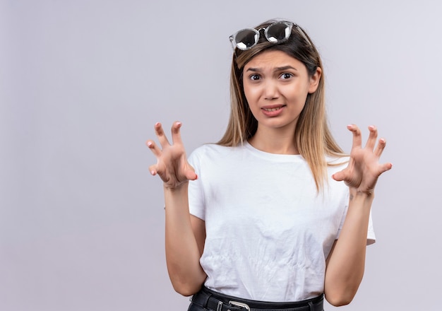
M155 134L160 141L162 149L153 141L146 141L146 145L157 158L157 164L150 165L149 171L152 175L159 175L165 183L165 187L175 189L189 180L196 180L195 170L187 162L186 151L179 129L181 122L174 122L172 125L172 145L167 140L165 132L160 123L155 124Z

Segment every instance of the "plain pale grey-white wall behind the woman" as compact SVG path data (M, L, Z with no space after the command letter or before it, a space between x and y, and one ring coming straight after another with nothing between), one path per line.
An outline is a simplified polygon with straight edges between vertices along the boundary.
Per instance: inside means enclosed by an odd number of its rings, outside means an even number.
M321 51L342 147L347 124L376 124L393 163L340 310L439 310L441 13L436 0L1 0L0 310L186 310L144 143L176 119L189 153L220 139L228 37L278 17Z

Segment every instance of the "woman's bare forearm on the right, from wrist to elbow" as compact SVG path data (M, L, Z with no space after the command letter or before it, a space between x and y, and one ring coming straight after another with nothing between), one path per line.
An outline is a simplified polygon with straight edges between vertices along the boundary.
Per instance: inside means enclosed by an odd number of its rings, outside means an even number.
M366 239L374 194L350 189L350 202L340 237L327 259L324 292L332 305L352 301L364 276Z

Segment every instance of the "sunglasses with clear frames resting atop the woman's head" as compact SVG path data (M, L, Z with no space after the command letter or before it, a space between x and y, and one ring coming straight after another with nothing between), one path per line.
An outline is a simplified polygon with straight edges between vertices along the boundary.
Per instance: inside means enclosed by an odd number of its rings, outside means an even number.
M311 46L310 40L297 24L285 21L272 23L266 28L259 28L258 30L253 28L241 29L237 31L237 33L231 35L229 40L232 42L233 49L237 47L238 49L246 51L258 43L259 37L261 37L261 30L264 30L264 36L268 42L276 44L285 42L289 39L292 34L293 26L297 28L302 37L304 37L306 42L309 42L309 45Z

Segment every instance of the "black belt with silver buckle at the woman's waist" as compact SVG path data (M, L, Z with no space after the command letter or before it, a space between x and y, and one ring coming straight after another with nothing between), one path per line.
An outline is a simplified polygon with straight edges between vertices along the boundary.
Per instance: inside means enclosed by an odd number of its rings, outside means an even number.
M192 303L215 311L323 311L323 295L296 303L268 303L224 295L201 288Z

